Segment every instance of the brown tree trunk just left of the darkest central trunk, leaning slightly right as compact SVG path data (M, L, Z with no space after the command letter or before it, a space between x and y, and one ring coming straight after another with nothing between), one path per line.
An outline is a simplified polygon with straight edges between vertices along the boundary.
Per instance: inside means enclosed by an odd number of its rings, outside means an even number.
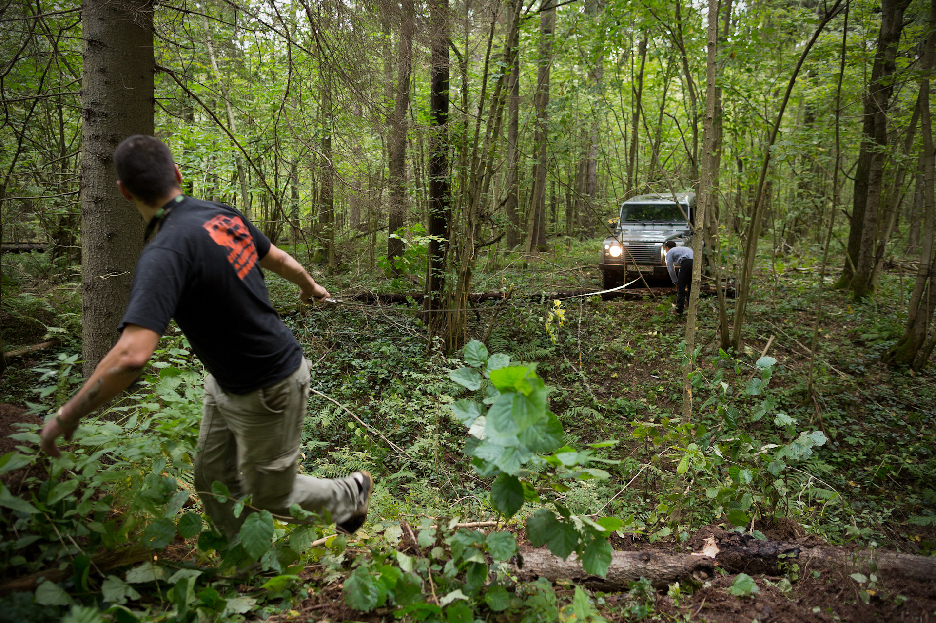
M390 191L388 201L387 257L403 254L403 242L392 235L403 226L406 213L406 111L409 109L410 77L413 73L413 34L415 29L413 0L402 1L400 16L400 48L397 56L397 84L394 109L390 117L388 168ZM393 274L398 274L393 269Z

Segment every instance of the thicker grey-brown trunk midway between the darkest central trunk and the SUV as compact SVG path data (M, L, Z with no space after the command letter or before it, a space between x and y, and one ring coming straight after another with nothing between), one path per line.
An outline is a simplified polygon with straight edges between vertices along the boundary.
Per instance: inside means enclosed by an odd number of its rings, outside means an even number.
M530 192L530 225L527 251L546 249L546 171L549 164L549 69L552 65L552 32L556 22L553 0L542 0L539 14L539 59L534 105L533 189Z

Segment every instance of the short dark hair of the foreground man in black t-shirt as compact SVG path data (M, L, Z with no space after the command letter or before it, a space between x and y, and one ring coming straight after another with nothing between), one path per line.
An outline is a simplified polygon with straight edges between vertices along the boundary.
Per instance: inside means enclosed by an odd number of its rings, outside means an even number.
M124 188L147 203L179 188L172 152L155 137L138 134L124 138L114 150L114 168Z

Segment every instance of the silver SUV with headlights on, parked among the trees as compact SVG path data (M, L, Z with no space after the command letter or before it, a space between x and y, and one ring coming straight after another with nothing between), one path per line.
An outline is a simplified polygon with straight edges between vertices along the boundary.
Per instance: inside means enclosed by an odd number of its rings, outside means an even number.
M692 243L687 218L693 218L695 195L640 195L621 204L614 233L601 245L598 269L604 289L616 288L624 280L642 274L648 279L668 279L663 244L676 240L678 246Z

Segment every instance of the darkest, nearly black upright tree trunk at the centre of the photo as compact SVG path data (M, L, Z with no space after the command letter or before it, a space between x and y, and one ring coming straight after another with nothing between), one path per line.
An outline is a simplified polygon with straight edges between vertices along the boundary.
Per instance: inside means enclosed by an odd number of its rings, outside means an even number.
M446 251L451 215L448 183L448 0L433 0L429 105L432 134L429 156L429 273L426 276L429 310L441 310L445 288ZM435 316L442 314L436 313ZM431 322L437 319L430 318Z

